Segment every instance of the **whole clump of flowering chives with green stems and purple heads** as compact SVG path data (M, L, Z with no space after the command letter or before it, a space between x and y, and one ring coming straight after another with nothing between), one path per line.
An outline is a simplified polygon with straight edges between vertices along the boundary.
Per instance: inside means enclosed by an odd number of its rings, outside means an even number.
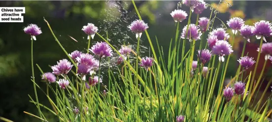
M33 43L39 41L41 29L31 24L24 29L31 35L32 79L35 98L31 98L39 115L33 115L41 121L47 118L41 112L46 109L60 122L268 122L272 110L269 110L271 98L264 100L264 94L252 105L254 95L260 90L264 68L272 61L272 43L266 42L272 36L272 24L261 20L249 26L244 20L233 17L222 28L214 28L217 10L204 1L183 0L181 9L173 10L176 33L171 39L168 58L160 48L155 37L153 44L148 33L149 26L139 14L132 0L139 19L127 25L135 36L136 50L129 44L115 48L108 37L103 37L98 28L88 23L83 26L88 40L86 49L67 52L45 19L57 44L67 55L66 59L56 61L51 71L44 71L33 62ZM209 17L199 17L203 10L211 8ZM188 13L187 13L188 12ZM214 14L213 14L214 13ZM197 19L191 20L196 14ZM188 19L187 25L180 28L180 23ZM227 33L227 28L232 33ZM44 29L45 30L45 29ZM78 30L79 31L79 30ZM169 33L171 34L171 33ZM207 35L208 38L204 38ZM151 53L140 54L140 39L147 37ZM231 82L224 86L226 72L233 51L235 36L242 36L244 46L237 61L240 65ZM248 57L245 44L256 36L260 43L257 59ZM100 38L100 41L94 41ZM233 38L232 42L229 39ZM112 40L114 41L114 40ZM186 43L190 44L186 49ZM199 43L196 49L195 44ZM173 44L173 45L172 45ZM205 46L202 46L205 45ZM154 46L158 47L155 52ZM181 51L180 51L181 49ZM265 57L261 57L261 53ZM194 58L197 56L197 58ZM111 58L117 57L117 69L111 66L102 75L101 67ZM259 60L265 59L262 72L257 76ZM253 65L255 64L255 67ZM250 70L252 67L253 70ZM46 90L37 85L34 68L39 68L41 80L45 81ZM245 72L250 72L249 75ZM35 72L38 73L38 72ZM245 76L246 75L246 76ZM256 80L257 79L257 80ZM107 85L106 85L107 84ZM38 89L37 89L38 88ZM37 94L40 90L44 94ZM48 91L53 95L49 96ZM38 95L45 95L51 106L44 106ZM265 101L264 104L261 101Z

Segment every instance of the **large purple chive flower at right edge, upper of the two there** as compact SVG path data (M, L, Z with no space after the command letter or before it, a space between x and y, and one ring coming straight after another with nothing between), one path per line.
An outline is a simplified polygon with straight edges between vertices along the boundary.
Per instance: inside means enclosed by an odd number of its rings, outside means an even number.
M265 42L267 42L265 36L272 36L272 24L269 23L269 21L265 21L265 20L261 20L259 22L256 22L254 24L253 31L252 33L254 33L256 35L257 39L260 39L263 36L263 39Z

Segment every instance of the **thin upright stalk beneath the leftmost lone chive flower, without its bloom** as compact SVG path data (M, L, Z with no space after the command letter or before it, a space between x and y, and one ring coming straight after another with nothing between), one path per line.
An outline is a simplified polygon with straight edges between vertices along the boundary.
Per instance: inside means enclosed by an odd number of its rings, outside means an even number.
M32 36L31 36L31 69L32 69L32 80L33 80L33 82L35 82L34 65L33 65L33 37ZM39 117L42 118L41 111L39 108L39 99L38 99L38 95L37 95L36 85L33 83L33 86L34 86L35 97L36 97L37 106L38 106L38 110L39 110Z

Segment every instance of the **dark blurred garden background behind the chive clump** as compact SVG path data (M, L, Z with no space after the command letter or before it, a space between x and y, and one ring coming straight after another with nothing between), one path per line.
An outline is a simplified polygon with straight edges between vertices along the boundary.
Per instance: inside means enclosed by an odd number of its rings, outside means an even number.
M172 10L178 8L180 1L135 1L140 10L143 20L149 25L149 34L153 41L155 50L155 36L158 38L160 46L164 49L165 57L170 39L175 36L175 23L170 16ZM245 20L245 24L253 25L259 20L272 22L272 1L260 0L209 0L206 3L210 6L200 14L200 17L209 17L211 6L217 11L212 13L212 17L217 13L219 19L215 19L214 27L223 27L224 22L232 17L240 17ZM109 36L111 43L119 48L123 43L135 45L135 35L131 33L127 26L137 15L131 1L0 1L1 7L26 7L24 23L0 23L0 117L10 119L15 122L36 122L23 111L38 115L36 106L30 103L29 96L35 98L33 83L31 82L31 60L30 60L30 36L25 34L23 29L28 24L37 24L42 34L37 36L34 42L34 63L39 64L44 72L50 71L49 65L54 65L56 61L67 58L57 42L54 40L43 18L51 25L54 33L62 43L68 53L74 50L85 51L87 39L81 28L87 23L93 23L99 28L99 33L104 37ZM189 8L181 6L179 9L189 12ZM188 19L187 19L188 20ZM187 24L187 20L181 23L180 30ZM195 23L196 14L192 15L192 23ZM221 21L222 20L222 21ZM230 30L228 30L231 33ZM71 39L75 38L78 42ZM207 37L205 37L207 38ZM271 41L271 38L267 38ZM97 35L92 43L102 41ZM229 41L233 41L232 38ZM256 55L255 49L259 45L256 38L251 39L252 43L246 45L246 53L252 57ZM231 58L228 67L227 77L235 74L238 62L236 61L242 47L243 38L236 36L234 42L235 55ZM198 44L198 45L197 45ZM199 46L197 43L196 46ZM149 43L145 34L141 38L141 51L143 55L149 54ZM189 45L188 45L189 46ZM187 46L187 47L188 47ZM197 48L196 48L197 49ZM195 55L196 58L196 55ZM255 58L257 59L257 58ZM115 65L115 60L111 64L104 64L104 67ZM262 64L259 64L262 67ZM265 77L272 76L271 64L266 69ZM105 74L104 74L105 75ZM45 89L45 84L40 81L39 69L35 66L35 77L38 85ZM104 81L103 81L104 82ZM265 85L265 83L263 84ZM270 90L271 91L271 90ZM49 106L45 95L38 90L39 102ZM49 122L54 122L55 117L42 109Z

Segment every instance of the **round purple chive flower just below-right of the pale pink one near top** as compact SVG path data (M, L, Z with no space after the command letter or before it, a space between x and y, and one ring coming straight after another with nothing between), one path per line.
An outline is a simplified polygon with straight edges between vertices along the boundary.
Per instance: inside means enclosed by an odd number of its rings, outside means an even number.
M189 39L190 42L192 41L192 39L194 40L200 39L200 36L202 33L194 24L189 25L187 33L186 33L186 30L187 30L187 25L182 30L181 38L185 39L185 36L187 36L187 39Z

